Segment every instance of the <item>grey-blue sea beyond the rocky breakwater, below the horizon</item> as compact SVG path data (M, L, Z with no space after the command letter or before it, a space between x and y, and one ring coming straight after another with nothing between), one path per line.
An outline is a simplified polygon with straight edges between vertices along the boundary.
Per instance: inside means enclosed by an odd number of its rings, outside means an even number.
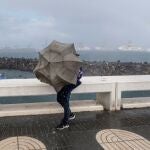
M150 62L150 52L147 51L78 51L81 59L87 61L114 62ZM37 51L1 51L0 57L37 58Z

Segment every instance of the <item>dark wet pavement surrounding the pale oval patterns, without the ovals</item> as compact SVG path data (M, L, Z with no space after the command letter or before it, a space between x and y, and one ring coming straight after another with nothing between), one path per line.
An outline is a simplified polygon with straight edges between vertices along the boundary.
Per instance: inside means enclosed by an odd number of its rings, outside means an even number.
M43 143L47 150L101 150L103 148L96 140L96 134L106 129L129 131L150 141L150 108L76 113L76 119L68 129L57 131L55 127L62 116L63 114L54 114L0 118L0 141L11 137L32 137Z

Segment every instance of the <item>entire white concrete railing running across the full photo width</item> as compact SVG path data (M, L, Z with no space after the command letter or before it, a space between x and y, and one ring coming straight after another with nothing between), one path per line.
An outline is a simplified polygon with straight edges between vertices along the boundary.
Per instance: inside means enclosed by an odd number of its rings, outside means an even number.
M96 100L71 102L73 111L120 110L124 106L123 91L150 90L150 75L83 77L82 84L72 93L96 93ZM56 94L52 86L37 79L0 80L0 97ZM135 99L134 99L135 100ZM131 102L131 101L130 101ZM142 104L145 101L142 100ZM146 105L150 106L147 98ZM135 107L135 106L134 106ZM130 108L130 107L129 107ZM1 104L0 116L48 114L63 110L56 102L31 104Z

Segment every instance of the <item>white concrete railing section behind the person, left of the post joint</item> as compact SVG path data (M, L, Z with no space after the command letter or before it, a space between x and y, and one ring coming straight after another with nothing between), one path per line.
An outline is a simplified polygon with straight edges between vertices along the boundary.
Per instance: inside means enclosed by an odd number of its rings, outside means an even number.
M0 97L56 94L52 86L37 79L0 80ZM72 93L96 93L96 100L72 101L72 111L115 110L115 83L101 77L84 77L82 84ZM57 102L30 104L1 104L0 116L48 114L63 110Z

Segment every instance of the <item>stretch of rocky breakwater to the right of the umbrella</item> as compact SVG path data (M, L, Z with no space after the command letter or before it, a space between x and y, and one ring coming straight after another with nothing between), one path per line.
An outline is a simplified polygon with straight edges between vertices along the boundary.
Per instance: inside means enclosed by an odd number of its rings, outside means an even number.
M83 68L87 76L112 75L149 75L150 63L136 62L84 62Z

